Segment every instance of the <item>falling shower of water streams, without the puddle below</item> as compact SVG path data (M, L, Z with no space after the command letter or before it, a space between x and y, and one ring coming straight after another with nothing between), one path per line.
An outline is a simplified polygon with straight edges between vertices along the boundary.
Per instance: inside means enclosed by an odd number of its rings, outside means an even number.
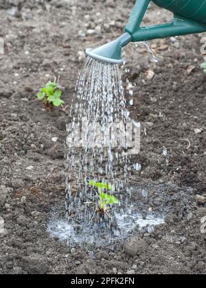
M78 79L71 117L72 123L67 125L67 218L69 223L85 221L91 227L95 223L110 229L116 207L106 213L107 219L106 214L98 217L98 191L88 183L109 183L115 190L108 194L118 198L130 170L126 153L129 113L117 65L87 58Z

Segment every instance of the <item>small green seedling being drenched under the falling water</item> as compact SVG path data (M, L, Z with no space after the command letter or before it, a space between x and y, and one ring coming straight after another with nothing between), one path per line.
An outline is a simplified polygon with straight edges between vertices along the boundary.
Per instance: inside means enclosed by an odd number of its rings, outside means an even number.
M108 216L108 218L111 219L111 216L108 214L108 205L116 205L118 203L117 198L113 195L109 195L104 193L104 190L107 191L113 191L115 188L111 185L109 185L108 183L96 183L95 181L91 180L89 181L89 186L98 188L98 197L100 198L100 203L94 203L94 202L87 202L84 204L91 204L91 205L95 205L96 209L95 212L89 222L89 224L91 223L91 221L93 220L94 216L97 214L100 214L100 216L104 217L104 214L106 214Z

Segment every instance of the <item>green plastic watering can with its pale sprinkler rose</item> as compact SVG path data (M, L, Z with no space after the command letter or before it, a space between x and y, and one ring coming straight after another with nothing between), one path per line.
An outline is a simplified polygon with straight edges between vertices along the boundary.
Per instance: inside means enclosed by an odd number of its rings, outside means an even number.
M140 27L151 0L136 0L121 37L86 52L93 59L106 63L122 63L122 48L128 43L147 41L184 34L206 32L206 0L153 0L159 7L170 10L174 19L170 23Z

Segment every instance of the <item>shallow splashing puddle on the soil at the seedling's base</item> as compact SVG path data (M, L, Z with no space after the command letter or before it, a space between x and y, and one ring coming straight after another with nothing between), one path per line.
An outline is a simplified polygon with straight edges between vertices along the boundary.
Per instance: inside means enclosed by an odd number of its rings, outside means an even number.
M115 226L108 227L105 223L88 226L81 223L79 227L68 223L66 219L57 218L54 214L49 220L47 232L50 236L58 237L59 240L67 241L68 245L108 245L124 240L132 235L134 231L154 232L154 227L165 223L163 217L149 214L144 219L140 213L133 216L115 213Z

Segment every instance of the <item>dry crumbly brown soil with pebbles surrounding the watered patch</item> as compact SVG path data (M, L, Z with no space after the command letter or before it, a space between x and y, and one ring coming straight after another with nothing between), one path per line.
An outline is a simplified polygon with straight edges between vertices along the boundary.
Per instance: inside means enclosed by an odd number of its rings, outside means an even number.
M135 103L128 109L142 130L135 159L141 172L130 183L165 185L170 195L165 194L165 207L172 206L165 224L152 234L137 232L115 247L93 251L68 247L47 233L49 212L65 197L65 123L84 61L81 52L122 34L132 5L0 1L5 41L0 55L0 274L206 273L206 233L201 233L206 205L196 203L196 194L206 194L206 77L199 68L204 34L152 41L158 64L141 44L125 49L124 83L129 79L135 85ZM170 13L159 14L151 6L145 22L166 19ZM96 26L101 32L88 31ZM152 79L148 70L155 72ZM38 88L54 77L60 77L66 112L46 112L35 101ZM190 214L179 213L181 196L190 198Z

